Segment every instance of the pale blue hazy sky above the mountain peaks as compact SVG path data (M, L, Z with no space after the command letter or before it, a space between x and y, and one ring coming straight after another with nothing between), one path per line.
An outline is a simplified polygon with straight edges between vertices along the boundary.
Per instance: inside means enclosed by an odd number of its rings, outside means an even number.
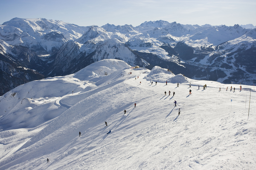
M62 20L79 26L181 24L256 26L256 0L0 0L0 24L19 18Z

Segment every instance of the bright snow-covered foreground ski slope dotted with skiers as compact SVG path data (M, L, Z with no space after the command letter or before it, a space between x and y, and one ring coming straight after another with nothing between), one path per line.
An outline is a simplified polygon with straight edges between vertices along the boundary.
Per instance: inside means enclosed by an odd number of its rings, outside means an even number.
M256 169L256 92L241 86L116 59L20 85L0 97L0 170Z

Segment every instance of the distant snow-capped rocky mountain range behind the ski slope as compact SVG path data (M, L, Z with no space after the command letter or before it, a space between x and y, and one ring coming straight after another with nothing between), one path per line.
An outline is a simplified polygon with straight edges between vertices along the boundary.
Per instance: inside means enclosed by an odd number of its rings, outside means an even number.
M102 59L167 68L222 83L256 83L256 28L149 21L77 26L13 18L0 25L0 95L26 82L73 74Z

